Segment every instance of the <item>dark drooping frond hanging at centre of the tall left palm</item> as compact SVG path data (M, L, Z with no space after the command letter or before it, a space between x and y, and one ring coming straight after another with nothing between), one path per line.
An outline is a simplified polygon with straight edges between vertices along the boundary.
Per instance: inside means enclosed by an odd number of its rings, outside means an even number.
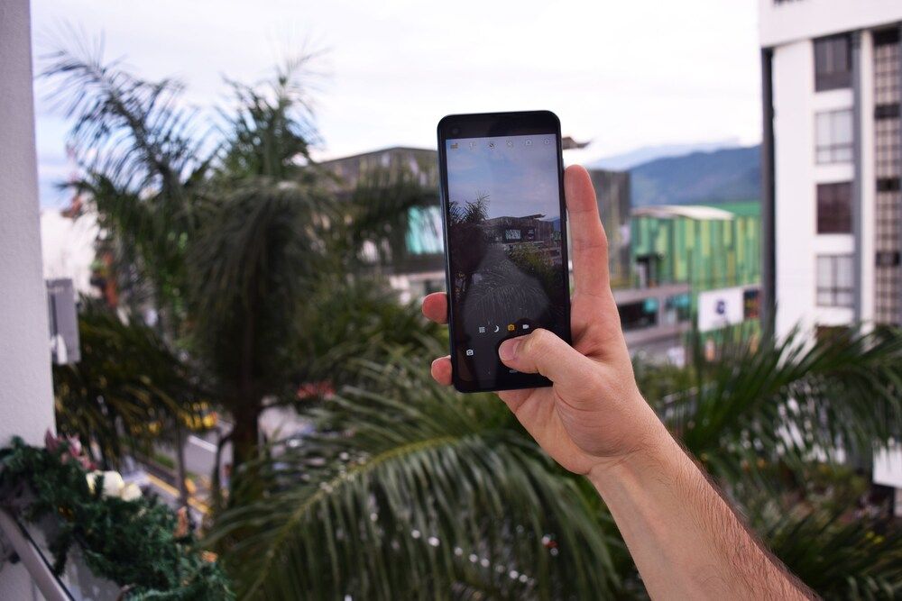
M330 199L316 187L253 178L205 209L189 243L193 341L224 389L277 381L304 299L336 276L325 234ZM269 391L263 391L269 392Z

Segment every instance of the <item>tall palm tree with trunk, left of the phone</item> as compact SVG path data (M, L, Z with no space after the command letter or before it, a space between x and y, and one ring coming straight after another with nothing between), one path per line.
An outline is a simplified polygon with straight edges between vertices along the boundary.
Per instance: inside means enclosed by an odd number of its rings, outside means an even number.
M117 250L122 287L135 293L126 296L131 318L154 308L163 339L187 351L233 415L235 468L256 456L264 400L290 398L321 364L299 354L311 336L302 329L308 299L345 294L355 272L372 271L364 242L397 246L407 209L434 202L404 174L376 177L378 187L364 178L350 197L329 192L308 153L316 132L300 78L306 60L272 83L230 82L237 108L222 112L216 142L198 134L198 112L181 108L176 82L66 51L46 70L61 78L76 123L87 174L78 187Z

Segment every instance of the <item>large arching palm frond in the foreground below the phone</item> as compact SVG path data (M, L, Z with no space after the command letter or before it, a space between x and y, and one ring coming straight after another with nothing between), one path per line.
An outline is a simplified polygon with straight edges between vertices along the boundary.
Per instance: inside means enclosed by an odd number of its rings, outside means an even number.
M235 483L211 542L253 598L566 598L619 586L609 518L488 395L400 356ZM612 549L612 545L614 549Z

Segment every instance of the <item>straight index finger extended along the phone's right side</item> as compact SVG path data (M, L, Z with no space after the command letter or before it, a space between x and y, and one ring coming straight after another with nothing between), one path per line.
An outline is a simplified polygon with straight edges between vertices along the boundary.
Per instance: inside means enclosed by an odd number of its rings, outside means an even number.
M589 172L571 165L564 172L564 193L573 241L576 292L601 295L609 287L608 239L604 234Z

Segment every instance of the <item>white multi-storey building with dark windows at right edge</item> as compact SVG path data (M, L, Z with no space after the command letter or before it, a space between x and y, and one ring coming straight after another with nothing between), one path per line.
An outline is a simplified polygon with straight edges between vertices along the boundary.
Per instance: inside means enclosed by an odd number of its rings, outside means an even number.
M759 0L759 20L762 305L780 333L902 324L902 2Z

